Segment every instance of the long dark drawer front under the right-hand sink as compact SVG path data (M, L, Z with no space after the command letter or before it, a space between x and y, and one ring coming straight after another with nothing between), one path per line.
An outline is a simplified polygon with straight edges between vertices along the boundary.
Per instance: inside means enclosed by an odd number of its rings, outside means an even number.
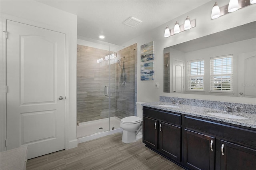
M184 128L192 128L256 148L256 131L184 116Z

